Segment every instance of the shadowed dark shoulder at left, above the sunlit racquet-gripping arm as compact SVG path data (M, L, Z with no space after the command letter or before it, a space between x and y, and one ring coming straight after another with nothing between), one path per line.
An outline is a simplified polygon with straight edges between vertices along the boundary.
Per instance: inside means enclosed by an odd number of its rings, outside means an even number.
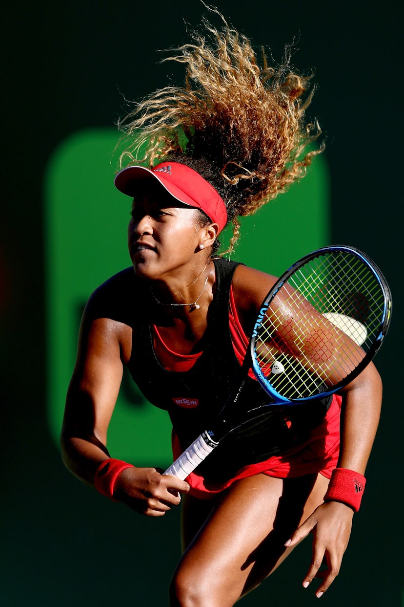
M141 281L136 278L133 268L125 268L93 291L85 307L85 316L88 320L108 318L130 325L143 300L139 297L141 291Z

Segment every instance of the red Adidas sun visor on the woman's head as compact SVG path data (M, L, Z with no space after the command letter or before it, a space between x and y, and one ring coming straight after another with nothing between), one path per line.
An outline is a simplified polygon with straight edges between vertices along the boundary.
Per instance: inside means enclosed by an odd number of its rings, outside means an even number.
M185 164L164 162L157 164L153 169L144 166L127 166L116 175L115 186L124 194L134 196L136 180L144 179L148 175L156 178L176 200L204 211L212 222L219 225L220 230L224 228L227 212L219 192L199 173Z

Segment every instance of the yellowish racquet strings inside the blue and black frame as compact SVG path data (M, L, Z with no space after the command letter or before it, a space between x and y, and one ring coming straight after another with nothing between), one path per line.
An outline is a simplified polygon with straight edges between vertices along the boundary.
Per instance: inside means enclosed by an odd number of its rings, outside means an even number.
M254 356L285 398L334 388L353 373L380 334L385 296L360 257L333 251L298 266L260 325Z

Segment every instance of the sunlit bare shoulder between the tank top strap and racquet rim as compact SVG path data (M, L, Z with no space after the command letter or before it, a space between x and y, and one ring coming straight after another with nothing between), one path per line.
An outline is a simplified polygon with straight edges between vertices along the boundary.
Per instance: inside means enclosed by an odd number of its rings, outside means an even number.
M245 265L238 265L233 277L233 295L237 310L255 314L277 277Z

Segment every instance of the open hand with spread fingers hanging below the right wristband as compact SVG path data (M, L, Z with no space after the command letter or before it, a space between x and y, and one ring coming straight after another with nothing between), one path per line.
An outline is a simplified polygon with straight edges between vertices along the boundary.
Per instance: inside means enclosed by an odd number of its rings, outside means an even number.
M349 506L337 501L321 504L285 544L288 547L296 546L310 532L313 533L313 558L303 580L303 588L307 588L313 578L322 578L322 584L316 591L318 598L339 574L343 553L351 535L353 515L354 511ZM320 571L323 563L326 569Z

